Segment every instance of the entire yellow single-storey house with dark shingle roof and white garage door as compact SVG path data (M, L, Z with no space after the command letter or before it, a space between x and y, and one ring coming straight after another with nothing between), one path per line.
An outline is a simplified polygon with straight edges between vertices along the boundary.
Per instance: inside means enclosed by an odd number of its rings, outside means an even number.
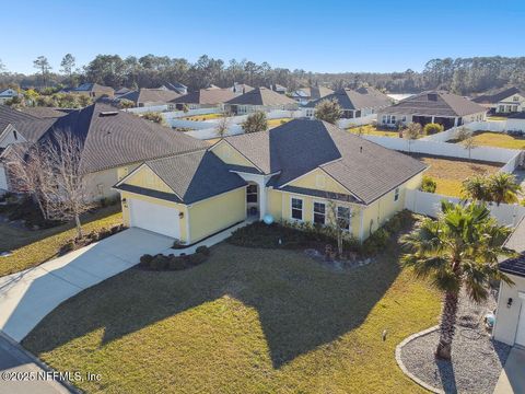
M405 207L427 166L320 120L226 137L147 161L115 186L125 223L194 244L256 215L324 225L334 212L365 240Z

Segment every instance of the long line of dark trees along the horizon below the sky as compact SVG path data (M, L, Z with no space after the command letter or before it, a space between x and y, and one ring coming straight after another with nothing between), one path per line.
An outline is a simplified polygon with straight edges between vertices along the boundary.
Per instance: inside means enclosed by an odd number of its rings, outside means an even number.
M190 90L210 84L231 86L234 82L252 86L281 84L293 91L300 86L325 85L334 90L366 84L390 93L417 93L442 89L457 94L481 93L506 85L525 89L525 57L474 57L429 60L421 72L345 72L318 73L302 69L272 68L268 62L250 60L224 61L202 55L197 61L185 58L145 55L142 57L97 55L83 67L67 54L58 72L45 56L34 60L36 72L25 76L8 72L0 60L0 88L46 88L96 82L113 88L156 88L166 82L180 82Z

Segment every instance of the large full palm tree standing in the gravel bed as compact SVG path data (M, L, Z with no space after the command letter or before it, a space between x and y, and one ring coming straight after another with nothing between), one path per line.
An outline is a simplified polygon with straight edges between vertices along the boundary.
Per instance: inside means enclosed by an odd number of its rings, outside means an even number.
M512 283L498 269L499 256L514 255L502 246L510 232L498 224L485 204L442 201L438 219L421 219L401 239L409 251L401 257L402 265L444 292L438 358L451 358L462 287L479 302L488 297L489 280Z

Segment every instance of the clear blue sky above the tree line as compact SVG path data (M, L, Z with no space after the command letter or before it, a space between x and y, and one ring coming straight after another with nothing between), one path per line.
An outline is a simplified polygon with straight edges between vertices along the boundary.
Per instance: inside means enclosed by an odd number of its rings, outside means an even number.
M2 1L0 59L200 55L306 71L421 70L436 57L524 56L525 1ZM9 15L9 16L8 16ZM8 16L8 18L7 18Z

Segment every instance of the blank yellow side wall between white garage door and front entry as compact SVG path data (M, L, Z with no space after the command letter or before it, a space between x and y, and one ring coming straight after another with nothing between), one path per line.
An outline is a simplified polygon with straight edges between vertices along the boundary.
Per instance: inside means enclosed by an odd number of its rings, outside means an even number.
M190 242L194 243L210 234L246 219L246 187L189 206Z

